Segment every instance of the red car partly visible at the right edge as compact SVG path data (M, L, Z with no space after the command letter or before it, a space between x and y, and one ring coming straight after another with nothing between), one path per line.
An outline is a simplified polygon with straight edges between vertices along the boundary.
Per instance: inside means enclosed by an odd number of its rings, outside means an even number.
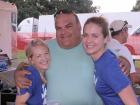
M130 34L127 44L134 48L135 55L140 55L140 26Z

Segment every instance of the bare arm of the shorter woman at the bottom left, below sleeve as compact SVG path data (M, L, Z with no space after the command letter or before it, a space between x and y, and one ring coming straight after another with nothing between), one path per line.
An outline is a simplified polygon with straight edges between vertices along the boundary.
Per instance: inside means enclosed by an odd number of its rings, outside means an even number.
M28 92L23 95L17 95L15 105L26 105L26 102L29 97L30 94Z

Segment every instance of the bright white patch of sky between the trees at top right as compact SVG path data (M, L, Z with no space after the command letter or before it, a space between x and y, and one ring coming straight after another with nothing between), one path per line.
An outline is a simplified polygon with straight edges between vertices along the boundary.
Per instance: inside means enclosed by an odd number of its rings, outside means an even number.
M129 12L135 6L136 0L92 0L100 6L100 12Z

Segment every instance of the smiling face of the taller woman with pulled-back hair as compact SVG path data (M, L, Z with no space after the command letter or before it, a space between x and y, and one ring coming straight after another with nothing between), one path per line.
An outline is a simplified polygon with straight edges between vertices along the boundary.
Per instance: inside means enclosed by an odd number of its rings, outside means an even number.
M105 50L107 37L104 38L102 28L94 23L88 23L83 30L83 46L93 59L98 59Z

